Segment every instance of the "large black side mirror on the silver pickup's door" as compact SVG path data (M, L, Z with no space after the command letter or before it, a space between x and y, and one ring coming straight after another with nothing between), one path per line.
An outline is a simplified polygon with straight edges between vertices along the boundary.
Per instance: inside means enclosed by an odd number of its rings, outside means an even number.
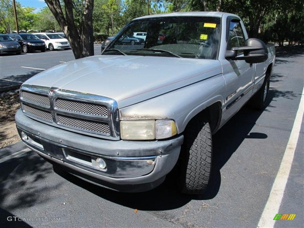
M244 56L237 57L237 51L244 51ZM244 47L233 47L227 50L225 57L232 60L245 60L250 64L261 63L267 60L268 50L262 40L251 38L246 40Z

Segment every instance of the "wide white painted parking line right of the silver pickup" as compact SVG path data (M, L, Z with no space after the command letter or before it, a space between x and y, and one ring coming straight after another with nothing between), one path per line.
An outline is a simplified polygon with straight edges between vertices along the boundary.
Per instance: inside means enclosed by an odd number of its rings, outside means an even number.
M292 160L295 154L295 148L299 139L299 133L301 130L301 123L304 113L304 88L302 92L299 109L295 116L295 122L293 123L292 131L287 143L287 147L282 159L280 169L272 185L271 192L268 201L265 205L264 211L261 215L260 221L257 227L273 227L275 221L273 218L278 213L282 198L287 184L289 172L292 166ZM287 212L286 212L287 213Z

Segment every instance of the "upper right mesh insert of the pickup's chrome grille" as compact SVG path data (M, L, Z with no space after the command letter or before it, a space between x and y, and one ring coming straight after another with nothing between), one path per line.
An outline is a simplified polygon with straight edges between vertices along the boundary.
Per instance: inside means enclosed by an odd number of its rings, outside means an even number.
M87 103L87 102L78 102L74 100L67 100L62 98L56 99L56 109L65 110L69 112L77 112L88 114L92 116L108 116L108 109L104 105Z

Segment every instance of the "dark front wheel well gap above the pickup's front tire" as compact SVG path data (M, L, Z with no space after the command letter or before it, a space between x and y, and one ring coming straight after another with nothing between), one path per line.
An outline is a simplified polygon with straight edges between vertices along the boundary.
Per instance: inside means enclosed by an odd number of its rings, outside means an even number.
M211 133L215 133L219 128L220 120L222 118L222 103L215 102L212 105L209 105L206 109L199 112L191 120L195 118L206 119L209 122ZM189 121L189 123L191 122ZM189 124L188 123L188 124Z

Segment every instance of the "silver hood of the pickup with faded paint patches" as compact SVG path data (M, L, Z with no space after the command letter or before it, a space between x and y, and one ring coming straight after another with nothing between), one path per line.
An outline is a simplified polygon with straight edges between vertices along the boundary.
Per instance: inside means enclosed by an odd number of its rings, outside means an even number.
M102 95L123 108L221 73L218 60L100 55L57 65L24 85Z

